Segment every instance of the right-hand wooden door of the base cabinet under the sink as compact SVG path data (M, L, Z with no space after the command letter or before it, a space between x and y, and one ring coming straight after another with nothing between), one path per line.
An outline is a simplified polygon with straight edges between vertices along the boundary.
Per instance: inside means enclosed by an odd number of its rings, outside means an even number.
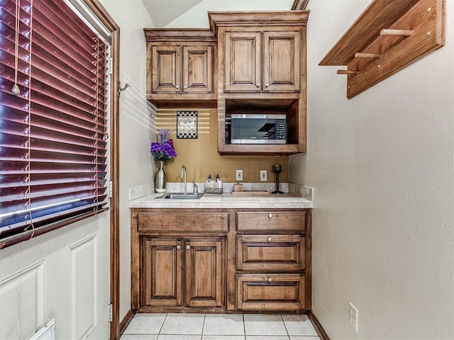
M225 259L223 239L187 239L185 248L186 305L222 307Z

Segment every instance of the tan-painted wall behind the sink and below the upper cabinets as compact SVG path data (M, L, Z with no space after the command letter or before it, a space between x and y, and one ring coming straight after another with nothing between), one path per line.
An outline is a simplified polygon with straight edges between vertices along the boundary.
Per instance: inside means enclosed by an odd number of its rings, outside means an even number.
M157 128L167 128L172 131L170 137L174 141L177 157L165 166L167 181L181 182L182 165L187 167L187 181L195 179L204 182L211 174L212 178L219 174L225 182L236 181L236 170L243 170L243 182L260 182L260 170L267 170L267 181L274 182L275 174L272 173L273 164L282 165L282 174L279 181L287 182L289 179L289 157L241 157L220 156L218 154L218 134L216 110L199 110L199 133L194 140L177 139L176 111L158 110ZM266 183L266 182L263 182Z

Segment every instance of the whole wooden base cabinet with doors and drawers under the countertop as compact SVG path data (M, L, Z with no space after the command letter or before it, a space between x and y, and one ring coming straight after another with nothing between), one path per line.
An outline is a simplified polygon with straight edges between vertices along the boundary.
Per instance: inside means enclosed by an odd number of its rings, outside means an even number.
M131 212L140 312L311 309L310 209Z

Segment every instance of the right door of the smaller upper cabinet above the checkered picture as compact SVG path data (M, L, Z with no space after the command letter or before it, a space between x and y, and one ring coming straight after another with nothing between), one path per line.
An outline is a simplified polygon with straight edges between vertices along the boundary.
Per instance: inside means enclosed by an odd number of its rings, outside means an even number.
M213 46L182 47L182 93L212 94L214 82Z

